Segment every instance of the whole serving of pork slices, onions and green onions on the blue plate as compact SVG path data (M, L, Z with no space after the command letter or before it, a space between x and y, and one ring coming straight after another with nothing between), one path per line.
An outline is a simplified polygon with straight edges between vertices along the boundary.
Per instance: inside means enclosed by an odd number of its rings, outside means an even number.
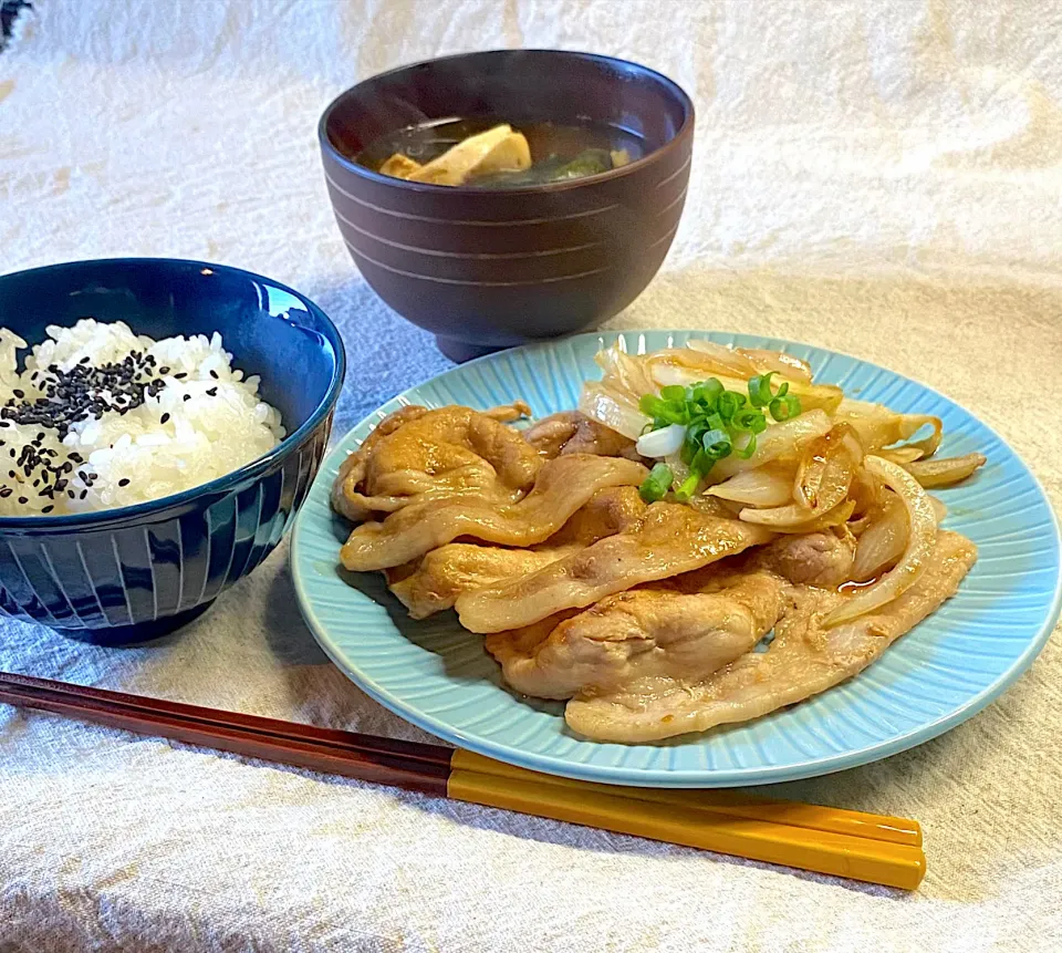
M771 351L597 361L577 410L527 429L519 402L404 407L333 490L357 524L347 569L382 570L415 619L455 610L575 732L650 742L792 705L871 664L976 560L927 489L985 457L937 457L938 418Z

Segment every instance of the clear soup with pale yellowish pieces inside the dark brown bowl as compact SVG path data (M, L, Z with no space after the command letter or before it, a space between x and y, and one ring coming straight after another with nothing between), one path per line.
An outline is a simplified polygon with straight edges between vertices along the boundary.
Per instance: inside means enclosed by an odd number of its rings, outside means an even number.
M598 175L644 155L642 138L596 123L437 120L372 143L355 158L384 175L433 185L513 188Z

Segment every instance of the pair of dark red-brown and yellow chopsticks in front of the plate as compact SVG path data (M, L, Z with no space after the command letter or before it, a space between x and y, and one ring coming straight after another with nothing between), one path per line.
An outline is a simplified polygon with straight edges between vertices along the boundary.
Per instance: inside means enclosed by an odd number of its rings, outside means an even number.
M906 890L925 876L917 821L740 790L569 780L471 752L0 673L0 702L437 797Z

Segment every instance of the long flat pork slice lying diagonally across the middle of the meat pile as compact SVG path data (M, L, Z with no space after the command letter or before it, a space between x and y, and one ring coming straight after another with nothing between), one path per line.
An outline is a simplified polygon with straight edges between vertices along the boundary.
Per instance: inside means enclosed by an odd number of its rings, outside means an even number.
M551 466L575 456L558 457ZM655 503L636 528L595 542L530 576L462 593L455 608L461 624L471 632L520 629L564 609L585 608L639 583L698 569L772 537L763 527L707 516L680 504Z

